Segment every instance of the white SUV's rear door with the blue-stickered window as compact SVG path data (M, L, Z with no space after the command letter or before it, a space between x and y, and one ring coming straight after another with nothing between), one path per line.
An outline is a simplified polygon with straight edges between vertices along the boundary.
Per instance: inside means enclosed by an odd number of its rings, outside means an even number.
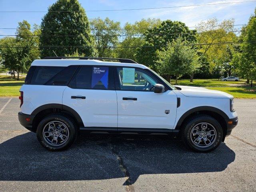
M85 127L117 127L113 68L80 66L64 90L62 104L76 110Z

